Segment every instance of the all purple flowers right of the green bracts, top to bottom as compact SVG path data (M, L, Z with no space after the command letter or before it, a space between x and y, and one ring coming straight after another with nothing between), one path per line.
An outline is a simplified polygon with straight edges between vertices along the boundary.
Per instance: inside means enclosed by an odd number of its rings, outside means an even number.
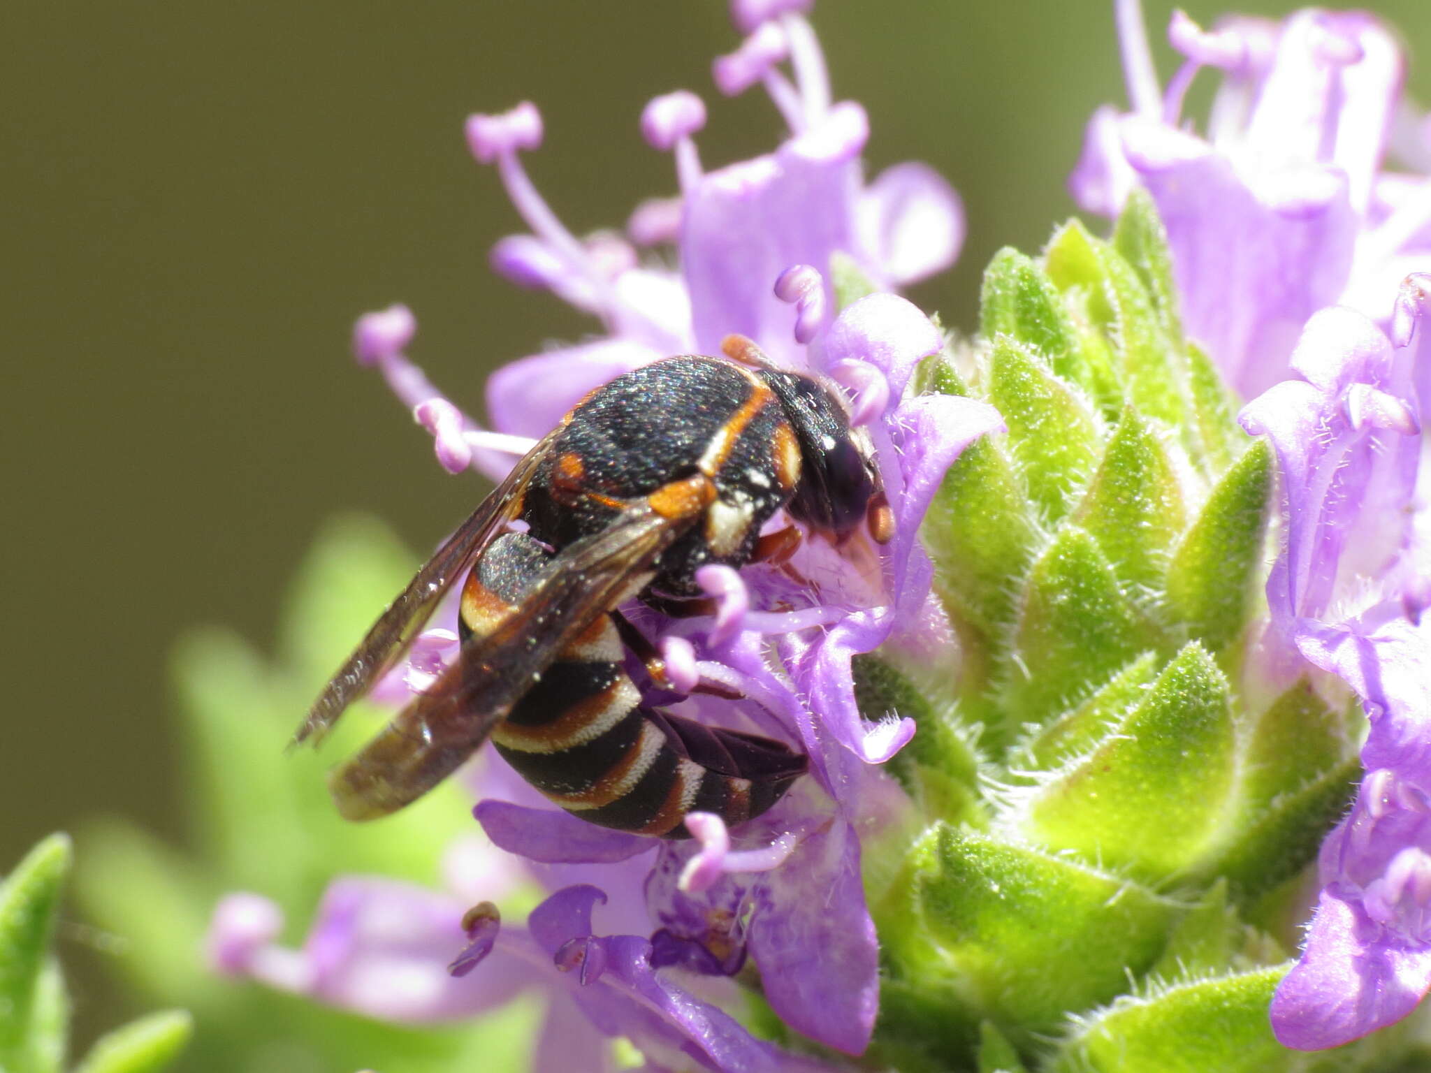
M1256 395L1241 421L1275 448L1284 501L1252 674L1265 687L1327 672L1319 687L1349 687L1369 720L1361 788L1322 847L1302 959L1272 1003L1278 1039L1329 1047L1431 990L1431 351L1418 325L1431 132L1401 97L1394 34L1368 14L1211 31L1175 14L1186 62L1159 90L1136 9L1119 3L1132 110L1095 114L1072 187L1100 212L1133 185L1152 195L1191 333ZM1222 73L1205 137L1181 117L1202 67ZM1414 170L1387 170L1388 155Z

